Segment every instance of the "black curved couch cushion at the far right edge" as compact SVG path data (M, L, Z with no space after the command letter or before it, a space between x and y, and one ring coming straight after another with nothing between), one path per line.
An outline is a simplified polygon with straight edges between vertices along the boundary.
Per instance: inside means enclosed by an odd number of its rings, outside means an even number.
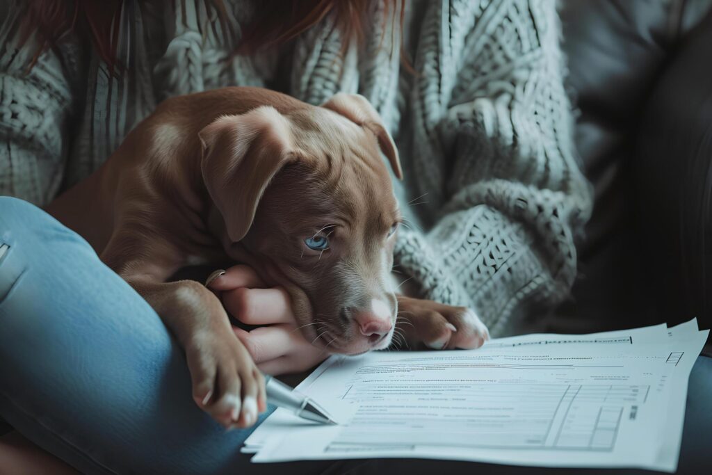
M712 16L681 42L647 101L634 176L651 300L712 323Z

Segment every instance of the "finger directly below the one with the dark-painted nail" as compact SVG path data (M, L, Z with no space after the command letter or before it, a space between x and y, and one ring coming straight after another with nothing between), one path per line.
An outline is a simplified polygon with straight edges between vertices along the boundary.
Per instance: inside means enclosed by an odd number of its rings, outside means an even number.
M236 288L223 293L222 301L235 318L248 325L294 323L292 301L281 287Z

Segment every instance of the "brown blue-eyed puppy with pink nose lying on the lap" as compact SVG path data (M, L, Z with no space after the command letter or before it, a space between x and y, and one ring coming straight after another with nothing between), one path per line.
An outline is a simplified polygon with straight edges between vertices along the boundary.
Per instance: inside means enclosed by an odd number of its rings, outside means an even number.
M166 100L95 174L48 208L85 236L186 350L197 403L250 425L260 373L221 302L179 268L231 259L289 293L305 338L330 351L386 348L398 307L409 344L476 348L466 308L395 295L399 209L380 152L397 150L357 95L314 107L258 88ZM260 404L262 405L262 404Z

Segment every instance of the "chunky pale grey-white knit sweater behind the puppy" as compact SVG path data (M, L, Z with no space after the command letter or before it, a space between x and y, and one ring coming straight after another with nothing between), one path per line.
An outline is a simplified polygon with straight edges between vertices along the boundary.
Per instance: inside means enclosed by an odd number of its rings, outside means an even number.
M258 85L318 104L360 93L399 146L405 179L396 189L410 229L399 233L396 263L423 296L470 306L502 335L569 291L574 236L592 204L575 159L553 1L409 1L412 75L399 61L400 13L383 21L379 1L367 41L343 57L328 17L281 53L248 58L231 51L253 1L226 1L226 41L210 2L126 0L118 53L128 68L118 77L72 36L27 73L36 43L17 47L23 9L7 1L0 194L46 204L171 95Z

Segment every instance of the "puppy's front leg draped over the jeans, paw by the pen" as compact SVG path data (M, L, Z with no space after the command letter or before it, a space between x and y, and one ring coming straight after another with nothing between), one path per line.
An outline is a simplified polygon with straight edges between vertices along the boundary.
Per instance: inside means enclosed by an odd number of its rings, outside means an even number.
M165 249L151 254L165 257ZM102 259L156 310L184 348L199 407L225 427L252 425L258 410L266 409L263 376L234 334L219 299L196 281L164 282L176 267L167 265L169 259L160 265L122 262L111 246Z

